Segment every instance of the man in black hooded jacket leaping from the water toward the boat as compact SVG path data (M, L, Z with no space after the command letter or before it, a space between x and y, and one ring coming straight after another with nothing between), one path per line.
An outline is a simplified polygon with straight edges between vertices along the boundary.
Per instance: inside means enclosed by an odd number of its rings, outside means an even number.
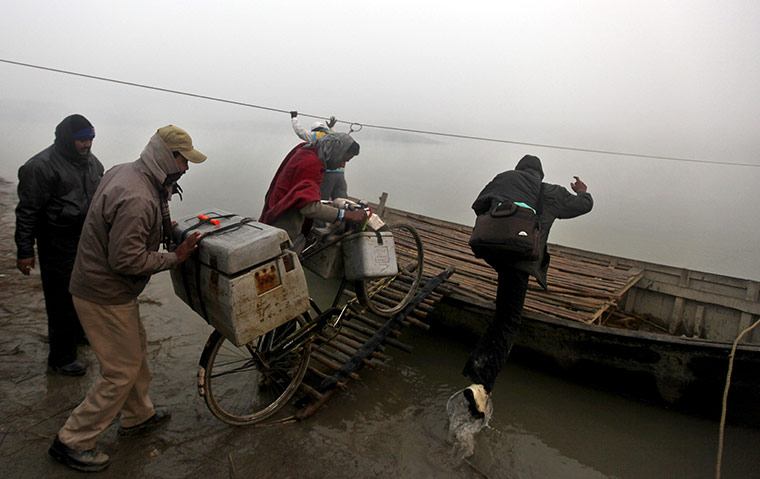
M520 328L528 278L533 276L546 289L549 253L546 243L555 219L575 218L591 211L594 200L586 185L577 176L570 187L543 183L544 170L536 156L525 155L514 170L498 174L480 192L472 209L475 214L487 213L495 203L523 203L538 212L541 225L540 254L535 261L514 261L500 257L485 258L498 274L496 313L488 329L480 337L465 364L462 374L473 383L464 390L470 412L483 417L494 381L507 362Z

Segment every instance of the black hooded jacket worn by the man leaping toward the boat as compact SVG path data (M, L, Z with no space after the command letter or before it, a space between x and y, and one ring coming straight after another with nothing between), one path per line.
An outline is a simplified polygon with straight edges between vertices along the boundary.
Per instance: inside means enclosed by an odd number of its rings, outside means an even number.
M585 191L573 194L562 186L543 183L543 178L541 160L525 155L514 170L499 173L483 188L472 204L472 209L475 214L481 215L488 212L493 201L510 200L526 203L538 211L541 224L540 256L535 261L518 261L512 263L512 266L535 277L541 287L546 289L546 274L549 270L546 244L554 220L586 214L593 208L594 200Z

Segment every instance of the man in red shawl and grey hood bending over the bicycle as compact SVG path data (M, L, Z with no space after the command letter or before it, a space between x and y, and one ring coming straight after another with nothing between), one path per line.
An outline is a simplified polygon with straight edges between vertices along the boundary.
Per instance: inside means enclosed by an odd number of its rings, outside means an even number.
M364 221L363 210L346 211L320 201L325 170L344 167L358 154L359 144L347 133L325 135L293 148L269 185L259 221L287 231L297 250L315 219Z

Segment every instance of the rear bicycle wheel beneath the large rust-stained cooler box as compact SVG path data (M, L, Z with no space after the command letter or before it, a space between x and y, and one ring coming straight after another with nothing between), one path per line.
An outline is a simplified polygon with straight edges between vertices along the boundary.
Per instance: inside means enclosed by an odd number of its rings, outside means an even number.
M276 361L266 361L273 344L303 327L298 317L237 347L214 330L201 356L198 392L211 413L233 425L254 424L284 406L309 365L310 349L300 345Z

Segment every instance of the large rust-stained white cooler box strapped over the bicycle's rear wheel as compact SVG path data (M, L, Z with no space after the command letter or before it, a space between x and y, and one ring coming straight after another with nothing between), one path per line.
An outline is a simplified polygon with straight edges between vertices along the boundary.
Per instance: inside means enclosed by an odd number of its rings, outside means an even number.
M219 224L194 228L199 214ZM309 309L306 278L285 231L240 224L242 216L219 209L199 214L174 229L176 241L188 230L206 235L198 254L171 270L175 294L195 312L241 346Z

